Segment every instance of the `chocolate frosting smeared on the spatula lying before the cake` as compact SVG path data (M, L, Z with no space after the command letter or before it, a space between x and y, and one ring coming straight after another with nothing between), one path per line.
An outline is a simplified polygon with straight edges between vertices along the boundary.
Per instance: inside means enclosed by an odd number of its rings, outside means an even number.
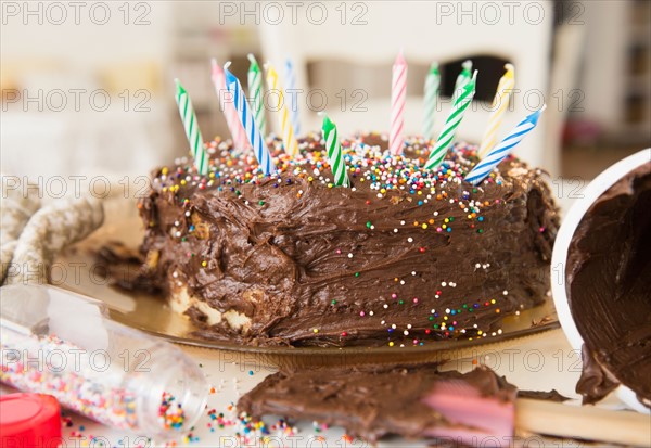
M435 366L326 368L267 376L240 398L238 410L258 420L273 414L343 426L371 441L392 434L426 438L433 428L459 426L425 402L442 383L460 391L465 385L502 402L515 400L515 387L485 368L465 374L438 372Z

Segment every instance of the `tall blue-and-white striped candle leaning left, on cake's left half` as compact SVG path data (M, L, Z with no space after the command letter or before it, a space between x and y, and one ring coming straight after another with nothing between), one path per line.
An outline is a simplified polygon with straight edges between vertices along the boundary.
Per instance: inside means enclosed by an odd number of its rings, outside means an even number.
M265 176L268 176L276 171L276 165L271 159L271 153L269 153L269 148L265 144L265 139L263 139L263 133L260 129L255 124L253 119L253 114L248 108L246 103L246 98L244 95L244 90L242 89L242 85L235 78L235 76L230 73L228 67L230 66L230 62L227 62L224 66L224 74L226 75L226 88L233 95L233 102L235 104L235 110L238 111L238 116L240 117L240 121L242 121L242 126L244 127L244 132L246 133L246 139L251 143L253 151L255 153L255 157L260 164L260 168Z

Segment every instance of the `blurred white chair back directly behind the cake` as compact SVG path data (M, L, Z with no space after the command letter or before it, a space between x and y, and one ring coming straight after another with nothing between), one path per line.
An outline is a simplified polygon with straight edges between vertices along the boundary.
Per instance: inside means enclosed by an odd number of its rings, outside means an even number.
M315 8L314 15L319 17L321 8L327 8L328 20L322 25L310 24L310 21L306 20L306 9L310 3L315 2L306 2L304 9L299 10L296 25L273 25L263 21L260 29L264 56L277 67L282 66L286 57L292 57L298 88L308 91L312 88L307 82L307 67L310 63L343 61L368 64L391 74L397 53L404 49L408 64L424 66L429 66L433 61L444 64L478 54L511 61L515 65L515 89L519 89L519 92L512 98L499 137L503 137L532 110L541 106L539 101L542 101L544 97L547 98L553 22L551 1L518 3L519 7L513 8L511 14L506 4L490 2L498 5L497 11L501 14L497 23L494 23L496 10L487 10L483 2L346 3L346 17L343 21L345 25L341 24L341 2L318 2L319 8ZM473 8L474 14L463 13ZM356 17L366 24L356 25ZM286 20L289 18L285 17ZM457 74L452 76L456 77ZM481 73L478 77L482 77ZM337 89L346 87L337 86ZM390 128L388 91L390 86L384 98L369 98L365 102L367 112L353 112L349 107L341 111L340 107L333 107L328 113L343 135L359 130L386 132ZM420 133L423 121L422 97L410 95L409 88L407 95L405 131ZM334 101L336 100L329 99L331 104ZM552 99L547 98L547 102L550 103L549 111L552 108ZM449 103L447 99L437 112L436 132L442 128L449 112ZM303 129L320 129L317 113L308 110L305 101L301 101L299 105ZM476 104L467 111L457 138L478 143L487 125L489 107L490 104ZM278 129L276 117L271 118L271 126ZM539 128L534 136L518 146L515 153L536 166L552 168L544 152L545 118L541 119ZM549 157L550 163L556 155Z

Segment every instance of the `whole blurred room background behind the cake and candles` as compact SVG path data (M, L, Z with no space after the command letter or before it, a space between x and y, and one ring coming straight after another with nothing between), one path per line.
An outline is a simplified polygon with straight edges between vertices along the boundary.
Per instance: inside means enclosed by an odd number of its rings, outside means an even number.
M18 176L146 174L188 153L180 78L205 139L228 136L210 57L246 86L253 53L291 57L303 130L327 110L341 133L388 130L392 64L409 64L407 133L423 84L442 69L441 129L461 62L478 69L458 137L478 142L503 64L515 88L501 135L548 108L516 155L552 176L590 179L651 145L651 2L2 1L1 169ZM281 79L282 81L282 79ZM277 116L267 112L277 127Z

